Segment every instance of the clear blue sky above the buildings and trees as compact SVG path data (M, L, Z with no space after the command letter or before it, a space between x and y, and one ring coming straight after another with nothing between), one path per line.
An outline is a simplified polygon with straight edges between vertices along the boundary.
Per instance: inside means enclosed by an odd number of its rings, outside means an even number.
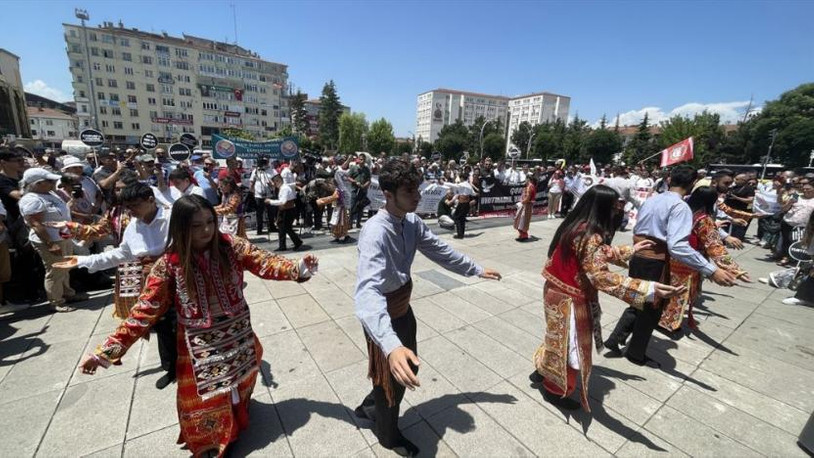
M333 79L343 103L397 135L414 130L416 96L448 87L572 98L591 122L635 123L708 108L735 119L814 81L814 2L13 1L0 47L19 55L28 89L72 97L63 22L234 41L289 65L318 96Z

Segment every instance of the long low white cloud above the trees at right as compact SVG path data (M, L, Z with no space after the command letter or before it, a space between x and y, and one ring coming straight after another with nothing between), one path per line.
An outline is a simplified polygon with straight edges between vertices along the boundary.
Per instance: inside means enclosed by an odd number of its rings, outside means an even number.
M746 109L749 107L748 101L738 102L719 102L719 103L685 103L679 107L675 107L670 111L665 111L661 107L644 107L639 110L631 110L625 113L619 113L620 126L634 126L642 122L645 113L650 124L658 124L661 121L666 121L673 116L688 116L692 117L696 113L701 113L706 110L710 113L717 113L721 116L722 124L734 124L743 119ZM750 115L760 112L761 107L751 108ZM608 117L608 125L614 125L616 117ZM599 120L592 124L594 127L599 125Z

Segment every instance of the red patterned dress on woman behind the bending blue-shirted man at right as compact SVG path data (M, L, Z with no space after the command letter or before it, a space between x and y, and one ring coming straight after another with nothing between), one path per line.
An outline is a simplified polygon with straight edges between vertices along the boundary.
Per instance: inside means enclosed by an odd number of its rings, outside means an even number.
M715 220L706 213L697 212L693 215L690 246L716 266L733 275L741 276L746 273L732 260L721 240L718 228L715 226ZM680 328L681 322L684 320L684 311L687 309L692 318L692 306L701 295L701 280L701 274L698 271L675 259L670 259L670 284L673 286L687 285L687 293L670 298L661 314L659 326L669 331ZM694 323L691 322L691 326L694 326Z

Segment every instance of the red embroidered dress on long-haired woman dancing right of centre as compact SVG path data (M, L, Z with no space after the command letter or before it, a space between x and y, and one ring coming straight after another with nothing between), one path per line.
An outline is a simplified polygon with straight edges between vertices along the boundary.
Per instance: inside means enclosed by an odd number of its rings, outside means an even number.
M574 241L574 253L580 252L580 243L580 238ZM568 380L569 367L573 370L578 366L583 387L580 393L582 407L590 412L588 379L592 368L592 341L597 350L602 348L602 311L598 291L642 308L650 282L608 270L609 264L627 267L633 247L606 245L598 234L592 235L584 244L581 259L563 256L562 247L558 246L543 269L546 333L534 354L534 364L546 383L553 384L566 395L574 389L573 381L569 383Z

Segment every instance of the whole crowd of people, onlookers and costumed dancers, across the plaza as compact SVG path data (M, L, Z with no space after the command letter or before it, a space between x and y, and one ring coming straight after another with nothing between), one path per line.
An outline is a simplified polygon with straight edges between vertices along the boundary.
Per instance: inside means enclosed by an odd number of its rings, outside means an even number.
M374 177L385 200L375 213L367 210ZM301 282L319 266L311 254L288 259L262 250L246 240L247 232L276 231L277 251L289 248L288 239L297 251L303 241L295 226L327 226L336 243L349 241L355 226L361 229L355 311L372 383L355 414L372 423L383 447L415 456L418 447L398 427L405 389L420 386L410 306L415 254L459 275L501 279L416 215L426 181L448 189L436 216L454 227L456 238L465 236L478 197L497 183L522 186L513 225L518 242L532 237L538 196L547 197L547 219L563 218L541 259L545 337L530 379L565 409L581 405L590 412L593 348L658 367L647 354L654 330L674 332L685 315L688 327L696 327L692 308L705 279L724 287L751 281L728 250L749 241L753 220L758 234L751 242L771 249L779 264L789 263L797 233L814 252L814 184L793 172L761 183L752 174L707 176L686 165L663 171L489 158L469 164L365 153L290 163L260 158L247 170L237 158L220 167L205 154L177 163L161 148L154 155L126 150L80 159L0 147L0 284L23 286L15 288L23 292L15 300L41 300L42 291L55 311L67 312L87 299L73 275L115 272L113 314L121 323L80 370L94 374L121 364L154 330L166 371L156 387L177 381L179 443L195 456L223 456L248 425L263 355L243 296L244 272ZM246 224L250 214L253 228ZM633 245L611 244L617 231L628 229ZM611 264L627 274L611 271ZM629 304L607 339L599 292ZM814 280L806 277L787 303L812 302ZM574 400L577 378L582 388Z

